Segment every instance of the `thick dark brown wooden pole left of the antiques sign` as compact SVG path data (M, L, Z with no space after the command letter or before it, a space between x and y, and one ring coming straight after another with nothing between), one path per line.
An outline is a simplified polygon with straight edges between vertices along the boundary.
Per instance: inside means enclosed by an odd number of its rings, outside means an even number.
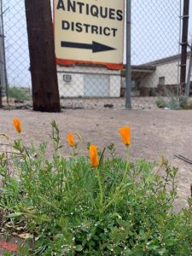
M55 44L49 0L25 0L33 110L60 112Z

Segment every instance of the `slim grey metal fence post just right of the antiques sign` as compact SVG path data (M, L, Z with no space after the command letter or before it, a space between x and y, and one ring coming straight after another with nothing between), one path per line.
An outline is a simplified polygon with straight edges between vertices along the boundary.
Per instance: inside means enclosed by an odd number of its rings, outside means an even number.
M125 108L131 109L131 0L126 0L126 93Z

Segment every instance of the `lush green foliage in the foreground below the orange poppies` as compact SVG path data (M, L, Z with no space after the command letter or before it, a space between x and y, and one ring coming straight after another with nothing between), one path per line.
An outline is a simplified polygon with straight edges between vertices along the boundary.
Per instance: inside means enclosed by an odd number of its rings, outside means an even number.
M177 168L162 159L154 172L154 163L118 158L113 145L93 168L77 148L63 158L55 122L52 129L50 160L45 143L29 150L15 141L18 178L0 158L3 229L30 234L33 244L22 255L191 255L191 212L172 209Z

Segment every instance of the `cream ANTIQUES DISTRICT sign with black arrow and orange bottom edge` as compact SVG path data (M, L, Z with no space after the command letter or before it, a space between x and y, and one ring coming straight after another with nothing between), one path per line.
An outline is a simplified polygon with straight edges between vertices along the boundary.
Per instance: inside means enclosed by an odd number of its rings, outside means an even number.
M124 0L54 0L57 63L122 68L124 17Z

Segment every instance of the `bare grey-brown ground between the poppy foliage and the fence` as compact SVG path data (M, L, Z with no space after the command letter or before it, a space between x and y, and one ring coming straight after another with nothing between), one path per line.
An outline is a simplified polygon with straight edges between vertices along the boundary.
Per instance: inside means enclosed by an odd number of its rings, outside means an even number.
M32 110L0 110L0 133L10 137L10 144L18 135L12 121L22 121L21 137L26 145L49 141L50 122L60 126L64 144L63 154L68 156L67 132L79 132L86 143L95 143L103 148L110 143L116 145L117 153L125 156L125 147L121 143L118 129L122 125L131 126L131 160L145 158L160 160L164 154L172 165L178 166L177 207L185 207L192 183L192 166L178 160L174 154L182 154L192 160L192 111L172 110L63 110L62 113L34 113ZM5 150L0 137L0 151Z

